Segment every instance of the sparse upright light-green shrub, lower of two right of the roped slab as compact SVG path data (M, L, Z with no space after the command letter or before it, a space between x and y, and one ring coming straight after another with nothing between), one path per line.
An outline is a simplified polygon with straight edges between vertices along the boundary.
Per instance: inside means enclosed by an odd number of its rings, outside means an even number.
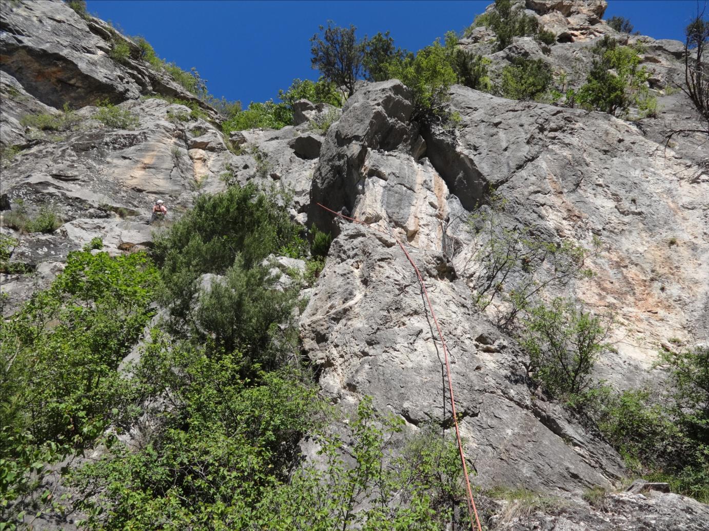
M530 355L527 371L554 398L591 387L591 370L608 350L610 323L562 298L538 304L523 319L521 344Z

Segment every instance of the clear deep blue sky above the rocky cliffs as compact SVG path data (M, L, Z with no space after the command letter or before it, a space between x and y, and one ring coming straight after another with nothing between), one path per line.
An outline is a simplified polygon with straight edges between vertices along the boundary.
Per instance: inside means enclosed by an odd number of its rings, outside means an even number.
M291 81L317 79L309 39L333 20L358 35L389 30L396 45L419 50L448 30L467 28L492 0L232 1L88 0L89 12L128 35L143 35L160 57L196 67L215 96L277 99ZM703 3L703 1L702 1ZM643 35L683 38L696 0L610 0L604 18L625 16Z

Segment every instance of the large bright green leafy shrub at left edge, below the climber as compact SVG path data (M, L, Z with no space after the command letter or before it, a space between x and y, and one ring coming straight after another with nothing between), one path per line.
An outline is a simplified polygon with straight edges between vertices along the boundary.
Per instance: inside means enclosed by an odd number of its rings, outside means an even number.
M150 319L156 282L140 253L74 251L48 290L0 321L0 484L10 521L49 502L37 489L52 462L117 421L128 396L116 367Z

